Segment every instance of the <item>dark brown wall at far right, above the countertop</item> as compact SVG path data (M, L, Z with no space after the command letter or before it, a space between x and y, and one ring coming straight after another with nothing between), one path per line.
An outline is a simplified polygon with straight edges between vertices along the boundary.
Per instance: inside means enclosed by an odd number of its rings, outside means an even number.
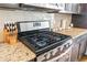
M83 13L79 15L73 14L72 23L76 28L84 28L87 29L87 13Z

